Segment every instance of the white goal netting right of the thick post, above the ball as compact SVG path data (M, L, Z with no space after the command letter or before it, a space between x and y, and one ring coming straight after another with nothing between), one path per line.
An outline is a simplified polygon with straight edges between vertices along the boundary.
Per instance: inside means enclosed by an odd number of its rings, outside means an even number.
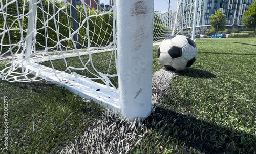
M154 42L185 35L193 28L195 0L158 0L154 4ZM191 33L191 31L190 31Z

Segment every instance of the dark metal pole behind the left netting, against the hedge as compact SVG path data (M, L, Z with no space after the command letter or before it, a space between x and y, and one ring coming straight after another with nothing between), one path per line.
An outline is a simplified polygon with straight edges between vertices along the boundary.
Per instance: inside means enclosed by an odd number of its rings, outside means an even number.
M71 0L71 14L72 14L72 23L73 23L73 30L76 31L78 29L78 23L77 23L77 12L76 12L76 0ZM74 34L74 40L76 48L80 48L79 44L79 36L78 33Z

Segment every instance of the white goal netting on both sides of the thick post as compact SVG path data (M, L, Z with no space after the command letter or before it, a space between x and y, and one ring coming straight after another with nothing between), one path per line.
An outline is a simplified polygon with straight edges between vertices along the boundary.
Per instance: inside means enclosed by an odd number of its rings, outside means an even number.
M72 7L71 0L0 0L3 80L49 80L41 75L47 66L60 80L58 75L65 73L118 86L115 1L113 6L105 0L76 2L78 5ZM184 9L177 11L177 6L190 7L180 1L155 1L154 42L180 34L185 22L181 18ZM109 52L93 54L105 51ZM28 69L28 64L36 69Z

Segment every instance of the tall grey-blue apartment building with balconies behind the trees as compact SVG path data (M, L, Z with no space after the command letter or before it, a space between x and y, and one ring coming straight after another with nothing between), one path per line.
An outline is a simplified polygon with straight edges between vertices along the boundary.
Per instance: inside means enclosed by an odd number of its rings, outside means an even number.
M179 12L184 15L179 16L177 21L178 29L183 28L182 34L188 34L190 28L193 27L194 7L186 5L194 5L195 0L181 0ZM226 14L227 29L229 32L233 28L243 28L241 23L244 12L251 6L253 0L199 0L197 6L196 17L196 34L204 34L206 29L210 28L209 17L212 13L221 9Z

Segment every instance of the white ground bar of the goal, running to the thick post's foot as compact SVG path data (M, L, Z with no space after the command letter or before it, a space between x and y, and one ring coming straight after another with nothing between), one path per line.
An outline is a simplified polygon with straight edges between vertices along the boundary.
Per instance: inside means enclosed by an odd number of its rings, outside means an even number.
M113 87L57 70L55 74L52 68L44 65L40 65L38 69L38 64L33 62L23 62L23 67L34 75L39 73L38 77L63 86L81 98L120 112L119 93Z

